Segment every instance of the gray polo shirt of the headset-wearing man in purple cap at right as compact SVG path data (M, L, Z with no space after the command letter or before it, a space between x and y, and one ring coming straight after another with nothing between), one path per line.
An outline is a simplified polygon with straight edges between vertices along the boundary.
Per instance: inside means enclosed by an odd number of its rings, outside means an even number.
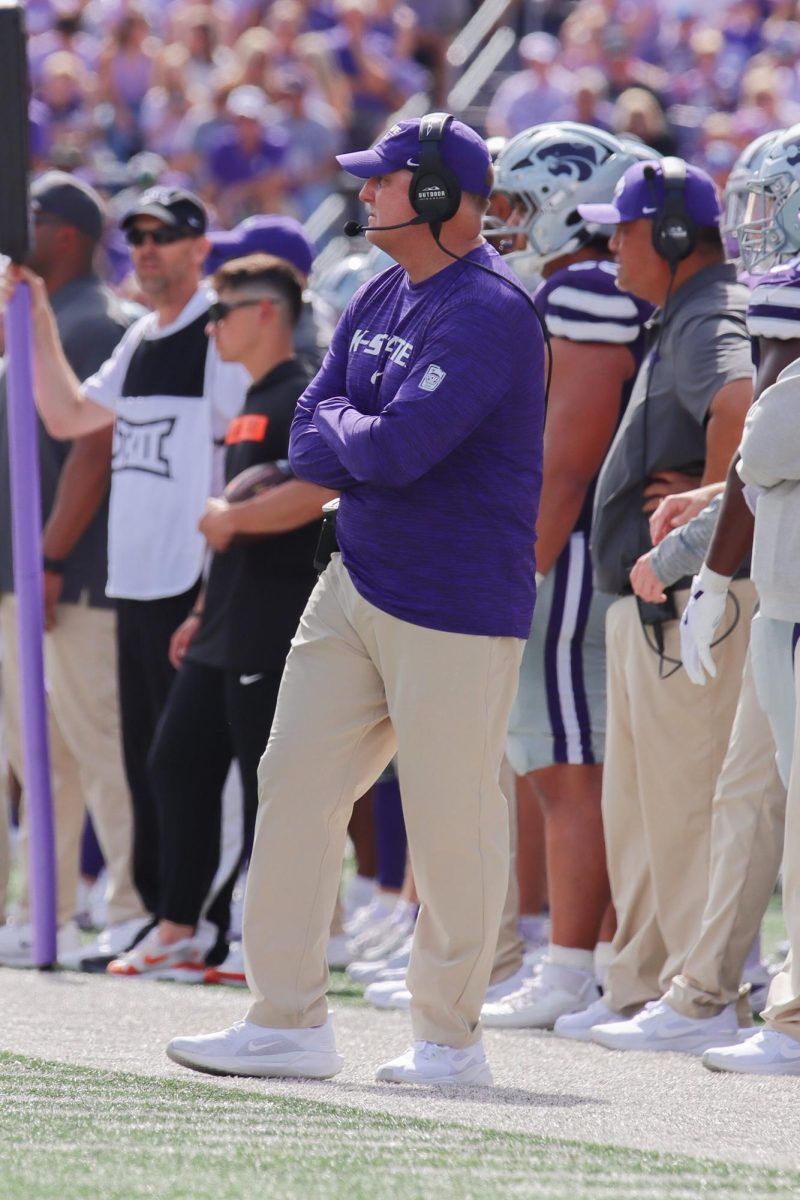
M747 298L735 268L720 263L669 300L657 359L654 346L597 481L591 558L600 592L627 590L631 566L651 546L646 481L660 470L702 472L711 401L724 384L752 377Z

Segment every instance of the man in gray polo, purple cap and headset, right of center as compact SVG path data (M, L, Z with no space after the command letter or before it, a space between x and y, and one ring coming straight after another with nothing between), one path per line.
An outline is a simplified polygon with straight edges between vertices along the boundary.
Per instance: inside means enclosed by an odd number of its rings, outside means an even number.
M714 787L728 745L747 649L752 586L734 584L720 674L705 689L680 670L674 612L640 610L630 572L650 550L648 510L662 494L723 479L752 397L747 292L724 262L711 179L682 160L636 163L612 204L582 204L615 226L619 286L658 305L655 344L597 482L591 553L606 619L608 724L603 828L618 930L607 992L555 1032L599 1040L663 994L682 968L705 905ZM646 1010L649 1014L649 1010ZM606 1022L606 1024L604 1024Z

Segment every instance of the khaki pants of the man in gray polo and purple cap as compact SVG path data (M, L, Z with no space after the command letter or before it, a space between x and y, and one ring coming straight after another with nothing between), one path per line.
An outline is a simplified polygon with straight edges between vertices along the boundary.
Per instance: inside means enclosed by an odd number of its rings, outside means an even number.
M715 647L717 674L703 688L682 670L658 678L658 658L645 642L633 596L608 610L602 803L618 929L606 1002L618 1013L663 995L684 970L699 931L714 790L730 738L754 602L748 580L734 582L732 590L739 622ZM687 592L676 594L679 611L686 600ZM678 622L663 631L664 654L680 659Z

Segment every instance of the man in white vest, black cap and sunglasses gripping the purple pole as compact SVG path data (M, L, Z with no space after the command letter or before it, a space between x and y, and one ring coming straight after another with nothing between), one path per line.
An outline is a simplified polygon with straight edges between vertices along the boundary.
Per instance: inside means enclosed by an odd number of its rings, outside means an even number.
M158 817L148 754L173 680L169 638L191 611L205 542L197 526L215 491L215 443L249 383L206 335L200 286L206 214L191 192L154 187L122 220L139 288L152 305L96 374L68 366L42 281L31 286L36 401L54 437L114 425L108 595L118 605L122 744L133 799L133 876L150 912L158 895ZM221 467L221 463L219 463Z

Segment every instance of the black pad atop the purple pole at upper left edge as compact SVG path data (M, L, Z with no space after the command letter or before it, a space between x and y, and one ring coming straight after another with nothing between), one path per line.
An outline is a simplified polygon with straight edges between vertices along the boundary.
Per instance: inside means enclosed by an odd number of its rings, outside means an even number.
M28 254L28 55L25 23L19 5L0 2L0 254L22 263Z

